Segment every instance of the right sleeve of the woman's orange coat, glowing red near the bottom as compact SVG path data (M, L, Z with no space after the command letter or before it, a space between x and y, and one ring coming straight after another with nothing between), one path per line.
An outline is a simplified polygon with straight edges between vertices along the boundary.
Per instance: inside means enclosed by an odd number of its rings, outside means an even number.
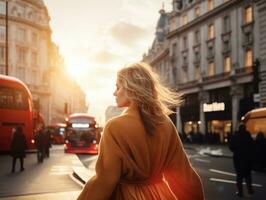
M204 192L199 175L191 166L176 130L169 152L169 164L164 177L178 200L203 200Z

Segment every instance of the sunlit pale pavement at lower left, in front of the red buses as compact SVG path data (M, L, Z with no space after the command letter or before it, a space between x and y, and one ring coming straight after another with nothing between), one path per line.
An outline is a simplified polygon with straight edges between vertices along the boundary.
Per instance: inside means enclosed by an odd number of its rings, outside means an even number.
M1 200L73 200L82 187L72 177L73 168L82 163L75 154L65 154L63 146L53 146L50 158L37 163L36 153L27 154L23 172L11 173L12 159L0 155Z

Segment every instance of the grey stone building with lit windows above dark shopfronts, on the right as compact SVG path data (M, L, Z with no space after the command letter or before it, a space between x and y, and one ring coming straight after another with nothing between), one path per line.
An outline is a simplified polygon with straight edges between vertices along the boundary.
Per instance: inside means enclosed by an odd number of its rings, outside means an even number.
M176 89L185 100L177 109L177 128L224 142L241 117L259 106L253 81L260 56L257 5L251 0L173 0L172 5L164 39Z

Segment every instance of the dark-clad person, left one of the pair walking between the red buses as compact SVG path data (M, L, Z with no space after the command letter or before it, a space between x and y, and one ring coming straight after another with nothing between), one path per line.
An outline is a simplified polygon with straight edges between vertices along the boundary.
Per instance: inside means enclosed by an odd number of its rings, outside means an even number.
M37 161L38 163L42 163L44 159L44 151L45 151L45 136L43 132L43 126L40 126L35 132L35 145L37 148Z

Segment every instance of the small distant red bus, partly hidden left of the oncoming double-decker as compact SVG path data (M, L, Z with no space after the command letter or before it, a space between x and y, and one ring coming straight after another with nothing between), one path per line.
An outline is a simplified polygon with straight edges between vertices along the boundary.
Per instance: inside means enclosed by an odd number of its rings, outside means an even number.
M50 132L51 141L53 144L65 143L64 135L65 135L66 124L64 123L50 124L45 129Z

